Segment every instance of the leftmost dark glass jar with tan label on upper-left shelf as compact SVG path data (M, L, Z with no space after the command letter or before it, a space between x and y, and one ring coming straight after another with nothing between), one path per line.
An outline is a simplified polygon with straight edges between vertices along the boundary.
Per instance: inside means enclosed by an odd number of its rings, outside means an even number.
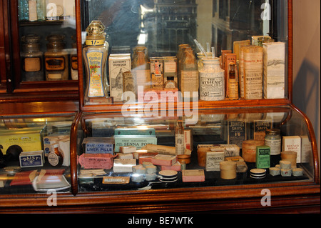
M21 37L22 81L44 81L43 53L40 51L40 36L29 34Z

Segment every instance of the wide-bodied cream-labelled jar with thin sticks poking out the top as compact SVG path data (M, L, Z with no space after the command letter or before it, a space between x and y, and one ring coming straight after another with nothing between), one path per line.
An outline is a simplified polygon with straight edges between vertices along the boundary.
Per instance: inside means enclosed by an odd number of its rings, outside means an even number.
M200 70L200 99L221 101L225 99L225 76L219 58L204 58Z

